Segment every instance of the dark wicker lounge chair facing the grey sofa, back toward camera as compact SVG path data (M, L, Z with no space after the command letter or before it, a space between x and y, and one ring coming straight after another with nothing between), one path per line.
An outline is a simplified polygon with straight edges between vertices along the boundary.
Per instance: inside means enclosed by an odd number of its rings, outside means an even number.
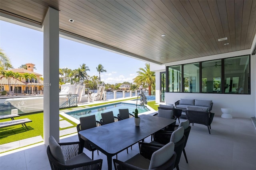
M187 107L186 110L186 117L189 122L192 123L192 125L194 125L194 123L198 123L207 126L209 134L211 134L210 129L214 113L209 113L208 111L196 111L192 109L195 108L191 108L190 110L190 107Z

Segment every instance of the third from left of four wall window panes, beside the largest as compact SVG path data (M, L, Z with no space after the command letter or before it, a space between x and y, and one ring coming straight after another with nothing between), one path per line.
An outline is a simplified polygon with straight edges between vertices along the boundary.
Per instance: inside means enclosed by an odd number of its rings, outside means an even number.
M221 59L202 62L202 93L221 93Z

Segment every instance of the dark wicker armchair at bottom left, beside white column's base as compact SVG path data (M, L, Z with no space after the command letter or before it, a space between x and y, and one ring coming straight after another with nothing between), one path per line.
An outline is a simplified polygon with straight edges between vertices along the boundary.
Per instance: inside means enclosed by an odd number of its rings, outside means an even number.
M50 138L46 152L52 170L101 170L102 159L91 160L82 152L80 142L57 143L52 136Z

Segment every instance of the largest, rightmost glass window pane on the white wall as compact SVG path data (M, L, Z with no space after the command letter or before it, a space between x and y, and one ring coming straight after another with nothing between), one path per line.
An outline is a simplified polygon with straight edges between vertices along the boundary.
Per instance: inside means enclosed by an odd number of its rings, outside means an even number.
M224 59L225 93L250 94L250 55Z

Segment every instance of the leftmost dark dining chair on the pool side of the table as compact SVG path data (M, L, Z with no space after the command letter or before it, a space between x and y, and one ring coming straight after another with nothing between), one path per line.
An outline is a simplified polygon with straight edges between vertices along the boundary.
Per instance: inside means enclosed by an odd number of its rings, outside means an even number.
M82 126L81 126L82 125ZM76 126L77 132L78 132L78 138L80 141L80 144L82 144L83 146L81 146L81 148L86 148L88 150L90 150L92 152L92 160L93 160L93 156L94 156L94 151L97 150L94 146L92 146L88 141L83 140L79 134L79 132L81 130L86 130L88 128L93 128L93 127L98 127L100 126L100 122L96 121L95 115L90 115L90 116L86 116L86 117L80 117L80 124L78 124ZM98 154L99 151L97 150Z

